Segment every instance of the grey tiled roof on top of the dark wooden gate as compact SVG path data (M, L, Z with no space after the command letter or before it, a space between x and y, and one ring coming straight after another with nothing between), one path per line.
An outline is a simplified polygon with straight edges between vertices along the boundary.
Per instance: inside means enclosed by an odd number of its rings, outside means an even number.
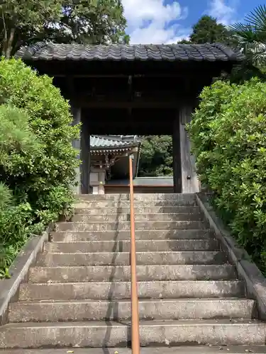
M221 43L187 45L79 45L37 43L22 47L16 57L23 60L85 60L85 61L232 61L240 62L244 55Z

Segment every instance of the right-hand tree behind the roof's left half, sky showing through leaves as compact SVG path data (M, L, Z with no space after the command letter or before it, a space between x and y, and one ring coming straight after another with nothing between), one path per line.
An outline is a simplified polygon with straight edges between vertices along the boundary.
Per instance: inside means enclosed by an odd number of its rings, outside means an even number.
M121 0L63 0L57 28L50 28L55 42L107 44L129 42Z

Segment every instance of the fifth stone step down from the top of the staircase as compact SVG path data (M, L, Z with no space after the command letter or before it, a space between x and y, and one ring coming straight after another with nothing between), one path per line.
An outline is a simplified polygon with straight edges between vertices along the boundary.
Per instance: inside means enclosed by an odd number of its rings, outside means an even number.
M59 222L55 231L129 231L131 223L128 222ZM135 222L136 230L170 230L170 229L205 229L201 221L145 221Z

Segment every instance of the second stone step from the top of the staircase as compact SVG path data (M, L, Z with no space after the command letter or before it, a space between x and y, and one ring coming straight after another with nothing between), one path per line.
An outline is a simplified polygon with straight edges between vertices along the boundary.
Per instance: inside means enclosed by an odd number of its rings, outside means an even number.
M181 202L176 200L150 200L150 201L134 201L134 207L196 207L196 200L189 202ZM130 207L129 200L79 200L74 204L76 208L106 208L106 207Z

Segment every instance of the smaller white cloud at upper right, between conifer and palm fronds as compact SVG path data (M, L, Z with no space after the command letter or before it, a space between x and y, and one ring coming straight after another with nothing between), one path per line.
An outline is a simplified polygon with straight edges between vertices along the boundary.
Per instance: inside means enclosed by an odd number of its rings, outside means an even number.
M217 18L219 23L230 25L235 22L238 0L211 0L208 14Z

